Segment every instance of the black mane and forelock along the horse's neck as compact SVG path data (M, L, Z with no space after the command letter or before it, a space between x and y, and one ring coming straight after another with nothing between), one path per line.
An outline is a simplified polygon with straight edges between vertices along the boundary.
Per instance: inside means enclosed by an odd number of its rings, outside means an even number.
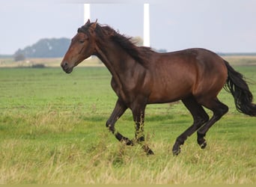
M78 28L78 32L83 32L85 34L89 34L89 28L93 23L88 23L83 25L81 28ZM148 58L150 53L152 53L152 49L150 47L144 46L135 46L135 43L132 43L131 38L127 37L124 34L119 34L113 28L108 25L100 25L97 23L95 28L95 32L100 40L107 43L108 40L112 40L115 43L118 43L121 48L123 48L135 61L138 61L141 65L147 66Z

